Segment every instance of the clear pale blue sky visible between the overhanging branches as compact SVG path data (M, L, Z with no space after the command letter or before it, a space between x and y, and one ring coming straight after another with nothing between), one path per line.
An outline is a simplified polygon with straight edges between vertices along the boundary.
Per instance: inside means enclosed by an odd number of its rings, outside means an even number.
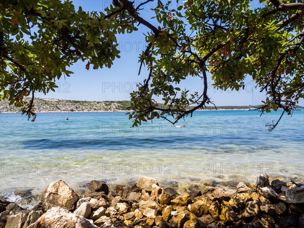
M139 4L142 1L135 1ZM163 1L164 2L164 1ZM103 11L103 9L111 3L110 0L77 0L73 1L75 9L79 6L84 11ZM255 2L254 2L255 3ZM157 1L148 3L141 11L140 15L145 19L153 16L150 7L155 6ZM176 4L176 1L172 1ZM256 1L258 4L258 1ZM156 20L150 20L156 27L160 24ZM143 33L148 29L139 25L138 31L132 34L122 34L118 36L119 48L121 50L120 59L116 59L110 69L103 68L94 70L86 70L86 63L79 61L75 63L70 70L74 73L71 77L62 77L57 82L59 88L56 92L50 92L47 95L37 93L36 97L40 98L56 98L67 100L87 100L87 101L105 101L105 100L129 100L129 93L136 90L136 83L142 82L147 77L147 72L142 71L138 75L139 63L138 56L145 50L145 40ZM210 81L209 77L209 83ZM246 88L242 91L220 91L215 90L210 85L208 95L217 106L221 105L256 105L264 100L264 94L258 89L254 89L251 79L246 80ZM201 79L188 78L180 86L181 89L186 88L190 91L203 91L203 82ZM255 100L252 102L252 90ZM158 101L161 101L158 100ZM304 105L301 101L300 105Z

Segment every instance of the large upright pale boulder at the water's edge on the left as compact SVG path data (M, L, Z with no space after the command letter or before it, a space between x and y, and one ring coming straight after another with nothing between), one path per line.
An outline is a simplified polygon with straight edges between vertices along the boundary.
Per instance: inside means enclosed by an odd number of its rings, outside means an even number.
M79 196L63 180L49 183L41 199L45 211L57 206L74 211L78 200Z

